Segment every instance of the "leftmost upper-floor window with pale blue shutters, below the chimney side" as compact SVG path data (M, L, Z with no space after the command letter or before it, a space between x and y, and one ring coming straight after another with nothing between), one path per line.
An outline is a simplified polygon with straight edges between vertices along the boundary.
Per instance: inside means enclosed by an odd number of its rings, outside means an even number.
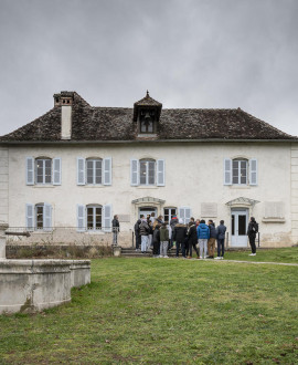
M61 158L26 157L26 185L61 185Z

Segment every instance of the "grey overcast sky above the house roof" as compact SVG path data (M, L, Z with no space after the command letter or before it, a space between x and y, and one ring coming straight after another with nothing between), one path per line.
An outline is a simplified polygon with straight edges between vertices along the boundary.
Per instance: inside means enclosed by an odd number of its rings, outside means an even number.
M0 135L76 91L233 108L298 135L297 0L0 0Z

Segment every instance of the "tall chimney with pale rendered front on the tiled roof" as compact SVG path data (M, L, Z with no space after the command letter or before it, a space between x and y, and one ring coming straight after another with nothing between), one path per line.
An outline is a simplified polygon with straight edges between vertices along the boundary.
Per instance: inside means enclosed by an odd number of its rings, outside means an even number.
M61 106L61 139L72 138L72 109L74 102L73 92L54 94L54 106Z

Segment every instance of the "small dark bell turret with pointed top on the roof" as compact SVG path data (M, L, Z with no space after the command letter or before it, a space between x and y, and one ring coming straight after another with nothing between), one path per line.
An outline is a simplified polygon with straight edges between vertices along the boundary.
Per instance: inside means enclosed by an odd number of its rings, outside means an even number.
M158 133L162 104L155 101L147 90L146 96L134 104L134 122L137 123L138 135Z

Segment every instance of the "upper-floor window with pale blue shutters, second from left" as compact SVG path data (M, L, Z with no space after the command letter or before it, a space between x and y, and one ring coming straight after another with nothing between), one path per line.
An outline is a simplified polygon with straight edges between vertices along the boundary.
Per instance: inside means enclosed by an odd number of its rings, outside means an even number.
M77 185L111 185L111 157L77 157Z

